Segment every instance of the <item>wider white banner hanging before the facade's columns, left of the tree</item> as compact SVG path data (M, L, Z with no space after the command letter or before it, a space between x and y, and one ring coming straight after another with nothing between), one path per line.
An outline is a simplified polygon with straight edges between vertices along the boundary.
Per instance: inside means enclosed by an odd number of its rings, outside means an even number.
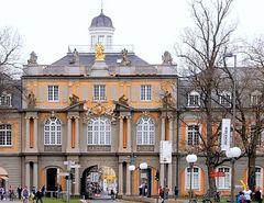
M170 163L172 162L172 150L173 150L172 140L161 140L160 149L161 149L160 163Z

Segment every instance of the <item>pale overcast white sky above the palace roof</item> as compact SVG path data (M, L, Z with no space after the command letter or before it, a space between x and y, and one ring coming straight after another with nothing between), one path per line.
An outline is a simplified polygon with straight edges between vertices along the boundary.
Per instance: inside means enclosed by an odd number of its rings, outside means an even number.
M138 56L161 64L185 27L191 26L190 0L102 0L116 29L113 44L132 44ZM235 0L231 21L237 36L264 34L264 0ZM11 26L23 40L22 63L34 50L48 65L66 55L68 45L89 45L89 26L100 14L101 0L1 0L0 27Z

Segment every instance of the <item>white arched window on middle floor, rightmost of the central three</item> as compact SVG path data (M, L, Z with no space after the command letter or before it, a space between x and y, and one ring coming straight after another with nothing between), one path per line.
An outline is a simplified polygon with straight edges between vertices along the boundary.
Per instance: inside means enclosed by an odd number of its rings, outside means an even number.
M138 145L154 145L155 124L151 117L141 117L136 124Z

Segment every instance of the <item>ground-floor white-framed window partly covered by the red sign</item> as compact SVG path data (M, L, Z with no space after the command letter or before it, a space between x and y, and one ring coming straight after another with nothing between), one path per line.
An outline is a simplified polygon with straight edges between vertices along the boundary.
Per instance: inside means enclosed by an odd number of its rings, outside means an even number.
M229 170L229 171L228 171ZM231 187L231 168L228 166L221 166L216 169L218 172L224 172L224 177L218 177L216 179L217 189L226 190Z

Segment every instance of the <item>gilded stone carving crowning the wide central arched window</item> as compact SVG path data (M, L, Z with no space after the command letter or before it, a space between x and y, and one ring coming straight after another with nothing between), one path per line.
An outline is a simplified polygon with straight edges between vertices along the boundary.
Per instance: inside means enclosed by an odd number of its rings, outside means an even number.
M111 105L109 108L103 106L101 103L98 103L94 108L85 108L86 114L84 116L84 122L87 123L92 116L101 116L106 115L111 117L111 121L116 121L116 113L114 113L114 105Z

